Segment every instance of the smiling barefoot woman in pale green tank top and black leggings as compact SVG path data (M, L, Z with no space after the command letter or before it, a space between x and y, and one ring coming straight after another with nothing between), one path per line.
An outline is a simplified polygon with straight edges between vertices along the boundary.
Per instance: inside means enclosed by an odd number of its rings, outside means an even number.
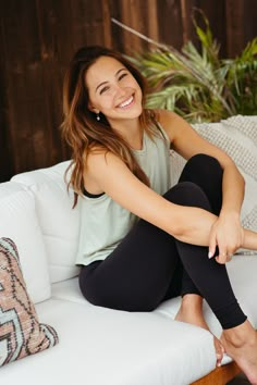
M121 54L82 48L64 80L70 184L81 197L79 286L94 305L151 311L182 296L176 320L223 328L215 340L257 384L257 336L234 297L225 262L257 249L240 223L244 181L232 160L173 112L147 110L146 85ZM170 147L187 160L170 188Z

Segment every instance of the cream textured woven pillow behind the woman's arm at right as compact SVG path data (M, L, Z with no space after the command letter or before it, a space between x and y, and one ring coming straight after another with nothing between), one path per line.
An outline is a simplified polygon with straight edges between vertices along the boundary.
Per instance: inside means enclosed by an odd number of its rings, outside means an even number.
M194 124L193 127L224 150L237 165L246 182L242 225L257 232L257 116L236 115L219 123Z

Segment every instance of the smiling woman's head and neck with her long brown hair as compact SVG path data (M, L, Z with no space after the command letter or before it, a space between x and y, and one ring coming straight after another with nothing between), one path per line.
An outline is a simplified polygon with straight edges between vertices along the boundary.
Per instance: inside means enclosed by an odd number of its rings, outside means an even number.
M149 137L160 132L156 125L152 127L155 112L142 109L145 94L145 78L120 53L102 47L86 47L74 55L64 78L65 120L62 128L73 149L71 184L75 202L84 191L84 178L90 179L83 173L85 158L100 148L117 154L142 182L148 184L132 151L142 148L143 131ZM90 188L88 184L94 181L87 182L88 191L102 192L99 187Z

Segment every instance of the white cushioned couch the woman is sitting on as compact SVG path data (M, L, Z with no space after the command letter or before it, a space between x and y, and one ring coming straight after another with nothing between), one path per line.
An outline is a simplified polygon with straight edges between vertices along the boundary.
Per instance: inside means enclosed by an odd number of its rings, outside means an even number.
M257 133L257 121L253 122ZM199 132L204 128L219 127L196 126ZM257 151L253 157L257 158ZM183 161L171 154L171 162L175 182ZM173 320L180 298L149 313L95 307L83 298L74 265L79 204L71 209L73 197L63 182L68 164L23 173L0 184L0 237L16 243L39 321L53 326L60 338L53 348L0 368L1 384L188 385L213 371L212 335ZM246 221L256 208L257 178L242 171L248 181L242 214ZM257 253L235 256L228 270L243 310L257 327ZM204 312L211 332L219 336L221 327L207 303ZM229 361L224 357L223 364Z

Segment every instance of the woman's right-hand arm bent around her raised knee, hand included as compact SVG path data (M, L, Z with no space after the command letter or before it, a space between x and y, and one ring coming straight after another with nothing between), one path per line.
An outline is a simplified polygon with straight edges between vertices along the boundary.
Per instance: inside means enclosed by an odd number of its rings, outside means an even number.
M223 169L222 208L213 223L209 238L209 254L213 256L219 246L219 262L232 254L243 239L240 211L244 198L244 178L231 158L221 149L201 138L182 117L173 112L160 111L160 123L170 137L172 147L185 159L196 153L215 157Z

